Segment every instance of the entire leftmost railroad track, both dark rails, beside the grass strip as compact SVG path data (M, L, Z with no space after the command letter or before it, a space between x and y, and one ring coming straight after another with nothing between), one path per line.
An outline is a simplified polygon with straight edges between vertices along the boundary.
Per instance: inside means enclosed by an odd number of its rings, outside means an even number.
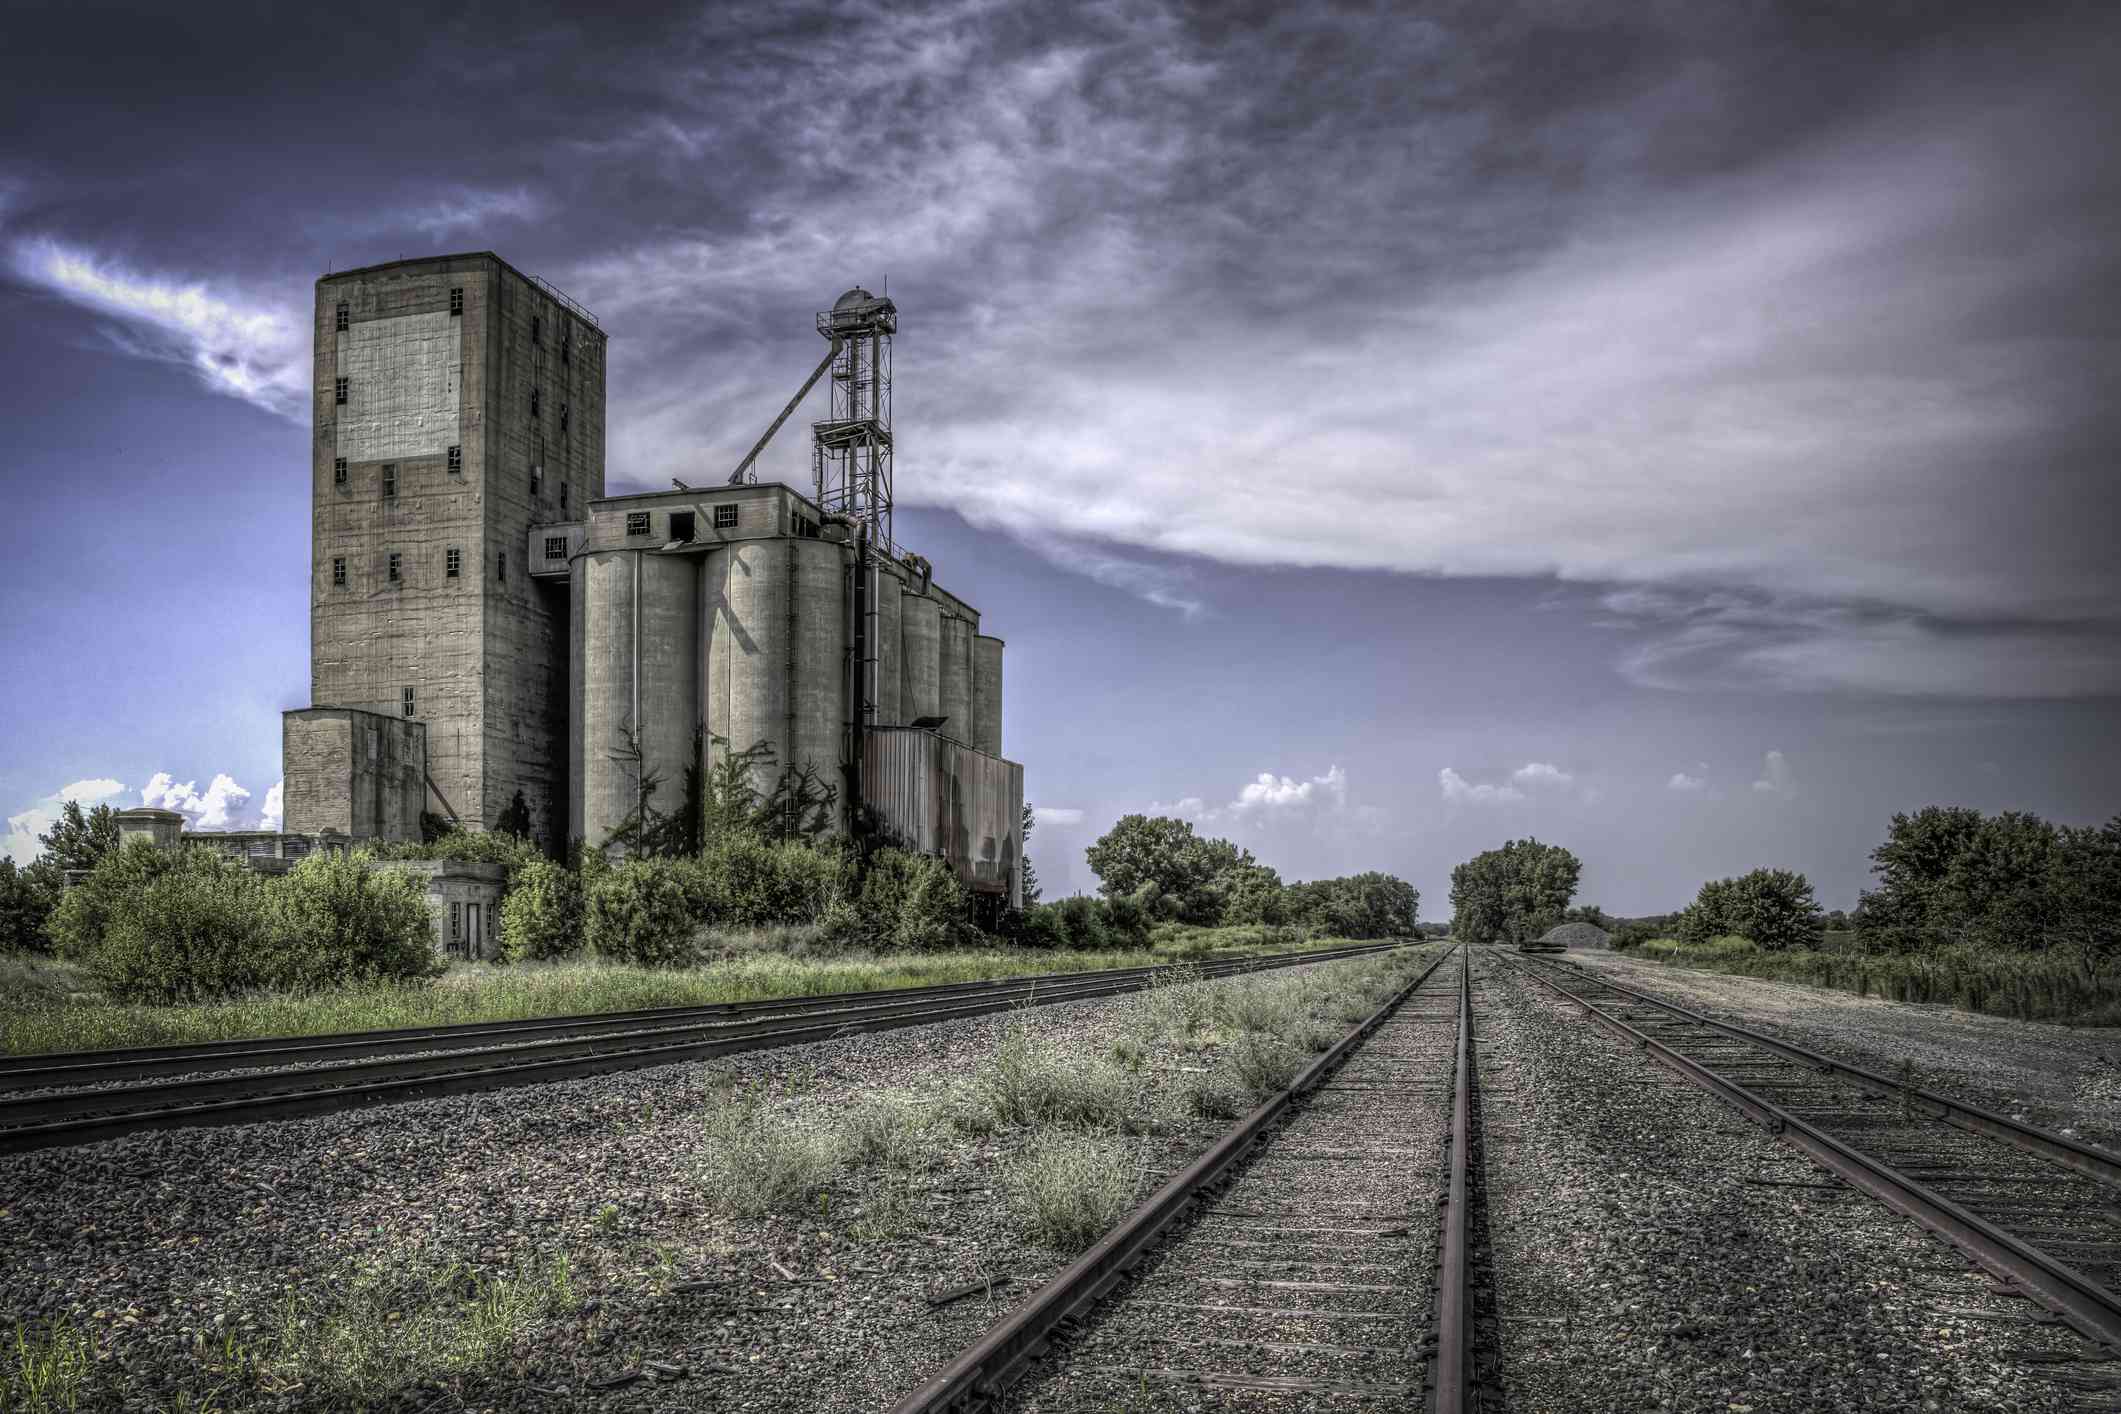
M1203 977L1234 977L1366 956L1402 945L1370 943L1283 952L1205 962L1198 965L1198 971ZM0 1066L0 1085L13 1090L78 1085L91 1083L91 1077L100 1081L138 1075L142 1068L168 1075L170 1066L176 1066L180 1075L235 1066L293 1068L6 1098L0 1100L0 1153L83 1145L142 1130L255 1124L441 1094L534 1085L579 1075L638 1071L681 1060L829 1041L865 1030L963 1020L1024 1005L1044 1007L1116 996L1154 986L1169 975L1167 967L1124 967L1097 973L954 982L933 988L838 992L717 1007L662 1007L539 1022L13 1058ZM305 1066L314 1060L390 1051L422 1054L322 1068ZM127 1071L127 1066L138 1068Z

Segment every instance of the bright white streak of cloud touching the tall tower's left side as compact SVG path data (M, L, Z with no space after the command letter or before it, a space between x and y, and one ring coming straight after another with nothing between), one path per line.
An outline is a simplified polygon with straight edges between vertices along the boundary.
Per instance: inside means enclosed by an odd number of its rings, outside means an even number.
M212 392L308 420L310 329L293 310L132 271L47 237L17 242L13 265L30 284L112 320L106 333L127 354L185 365Z

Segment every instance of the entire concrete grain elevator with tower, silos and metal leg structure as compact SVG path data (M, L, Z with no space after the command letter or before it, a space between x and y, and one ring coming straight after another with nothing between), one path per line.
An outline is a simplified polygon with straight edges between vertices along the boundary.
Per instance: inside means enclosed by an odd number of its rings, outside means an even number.
M604 333L551 286L437 257L327 276L316 310L316 706L284 717L291 833L490 829L520 793L547 846L624 854L630 820L734 750L757 791L806 767L834 829L880 825L1020 901L1003 642L895 541L889 299L817 316L817 371L734 473L621 496ZM812 483L757 481L819 382Z

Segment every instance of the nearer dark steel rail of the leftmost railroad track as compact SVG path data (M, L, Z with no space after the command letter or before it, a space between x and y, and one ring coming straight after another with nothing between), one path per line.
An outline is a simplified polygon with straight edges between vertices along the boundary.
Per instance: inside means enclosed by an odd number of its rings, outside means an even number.
M1317 954L1279 954L1273 967L1245 960L1243 973L1302 967ZM1330 958L1326 958L1330 960ZM1243 975L1222 973L1222 975ZM1080 973L1092 975L1094 973ZM1020 1005L1058 1005L1141 990L1143 977L1105 979L1092 986L1044 988L1027 992L1012 988L988 994L872 1007L865 1011L797 1013L738 1026L687 1026L647 1032L649 1043L632 1037L541 1041L530 1045L481 1051L450 1051L405 1060L367 1060L322 1071L271 1071L201 1081L174 1081L110 1090L83 1090L57 1096L30 1096L0 1102L0 1153L53 1149L95 1143L144 1130L197 1128L216 1124L255 1124L261 1119L293 1119L303 1115L418 1100L441 1094L509 1090L583 1075L643 1071L679 1060L734 1056L742 1051L804 1045L870 1030L899 1030L933 1022L965 1020L1007 1011ZM691 1037L691 1039L679 1039ZM148 1098L155 1107L125 1107Z

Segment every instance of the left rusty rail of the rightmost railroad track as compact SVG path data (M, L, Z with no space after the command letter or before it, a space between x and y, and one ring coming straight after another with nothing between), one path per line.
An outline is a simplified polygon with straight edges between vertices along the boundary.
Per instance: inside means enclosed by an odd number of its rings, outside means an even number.
M1924 1230L1945 1238L1979 1268L2004 1285L2017 1287L2028 1297L2040 1302L2068 1321L2087 1340L2104 1344L2110 1350L2121 1350L2121 1295L2115 1295L2089 1276L2043 1253L2038 1247L2032 1247L2002 1227L1996 1227L1987 1219L1968 1213L1943 1194L1898 1172L1883 1160L1875 1160L1860 1149L1841 1143L1833 1134L1799 1119L1780 1104L1750 1092L1746 1085L1718 1075L1690 1056L1665 1045L1657 1037L1629 1026L1625 1020L1612 1015L1597 1003L1578 996L1553 977L1542 975L1540 969L1525 967L1523 962L1510 962L1508 967L1544 986L1555 996L1576 1003L1593 1022L1623 1041L1635 1043L1667 1068L1678 1071L1682 1077L1722 1098L1733 1109L1780 1136L1784 1143L1801 1149L1850 1187L1869 1194L1894 1213L1913 1219Z

